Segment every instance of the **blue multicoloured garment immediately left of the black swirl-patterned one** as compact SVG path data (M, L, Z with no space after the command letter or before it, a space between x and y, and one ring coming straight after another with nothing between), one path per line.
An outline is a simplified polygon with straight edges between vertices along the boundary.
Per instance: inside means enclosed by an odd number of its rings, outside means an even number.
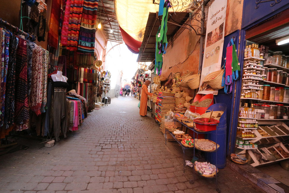
M4 123L4 111L5 111L5 97L6 97L6 79L7 79L7 69L9 63L9 40L10 40L10 33L5 31L5 49L4 49L4 68L3 68L3 76L1 81L1 112L0 115L0 126L3 126ZM2 72L1 72L2 73Z

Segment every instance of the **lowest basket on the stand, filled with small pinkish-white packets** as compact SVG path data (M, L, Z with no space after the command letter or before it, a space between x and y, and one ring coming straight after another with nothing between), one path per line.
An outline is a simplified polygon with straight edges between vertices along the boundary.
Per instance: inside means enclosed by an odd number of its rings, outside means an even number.
M215 178L216 173L219 172L217 167L210 162L198 162L194 164L195 172L205 178Z

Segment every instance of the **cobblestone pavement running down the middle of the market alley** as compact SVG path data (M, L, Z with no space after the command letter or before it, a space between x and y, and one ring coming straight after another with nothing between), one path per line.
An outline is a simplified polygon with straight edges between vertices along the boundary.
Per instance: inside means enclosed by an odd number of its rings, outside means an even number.
M216 192L215 179L183 173L182 151L165 145L159 125L139 116L138 100L112 99L89 113L68 138L45 148L24 140L27 150L0 156L0 192ZM228 167L218 173L221 192L261 192Z

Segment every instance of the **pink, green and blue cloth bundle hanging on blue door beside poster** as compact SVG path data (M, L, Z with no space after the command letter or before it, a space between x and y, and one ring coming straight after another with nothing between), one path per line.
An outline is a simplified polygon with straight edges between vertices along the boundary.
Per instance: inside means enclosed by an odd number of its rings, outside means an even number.
M236 45L234 39L228 43L226 48L226 58L224 63L224 74L222 78L222 86L224 86L224 92L229 94L233 90L234 80L238 80L240 65L237 58Z

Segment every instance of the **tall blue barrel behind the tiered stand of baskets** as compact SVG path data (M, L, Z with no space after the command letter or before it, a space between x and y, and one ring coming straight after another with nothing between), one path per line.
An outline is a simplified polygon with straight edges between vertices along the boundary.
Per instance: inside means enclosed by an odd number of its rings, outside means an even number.
M217 152L206 153L206 159L216 165L219 169L226 166L226 149L227 149L227 105L224 103L216 103L208 108L213 111L223 111L223 115L220 118L220 123L217 125L217 130L208 134L208 139L216 142L220 145ZM216 141L217 137L217 141ZM217 162L216 162L217 157Z

